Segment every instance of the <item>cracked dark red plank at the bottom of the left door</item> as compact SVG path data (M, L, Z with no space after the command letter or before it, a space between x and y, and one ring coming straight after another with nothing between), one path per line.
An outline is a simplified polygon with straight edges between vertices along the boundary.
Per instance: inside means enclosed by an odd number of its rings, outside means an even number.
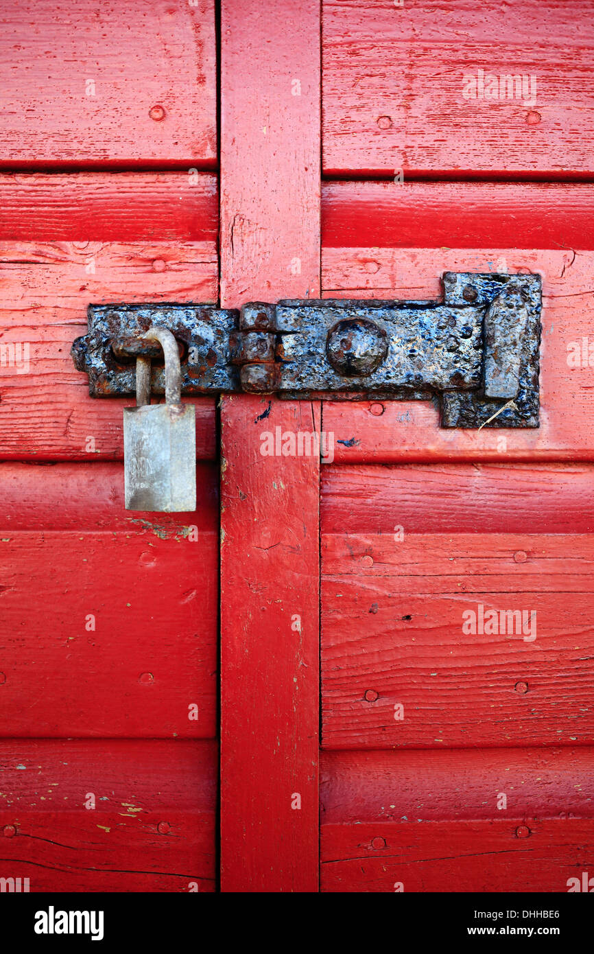
M1 741L1 876L31 892L214 891L216 756L213 742Z

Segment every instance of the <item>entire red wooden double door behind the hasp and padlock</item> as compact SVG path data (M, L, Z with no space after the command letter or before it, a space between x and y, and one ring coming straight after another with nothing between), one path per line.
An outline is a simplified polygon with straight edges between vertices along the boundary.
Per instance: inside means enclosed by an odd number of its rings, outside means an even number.
M565 891L593 864L591 0L33 6L0 38L0 877ZM186 399L195 513L124 510L131 402L70 358L90 302L433 299L448 270L542 275L538 429ZM263 453L277 428L332 455ZM479 606L535 638L464 632Z

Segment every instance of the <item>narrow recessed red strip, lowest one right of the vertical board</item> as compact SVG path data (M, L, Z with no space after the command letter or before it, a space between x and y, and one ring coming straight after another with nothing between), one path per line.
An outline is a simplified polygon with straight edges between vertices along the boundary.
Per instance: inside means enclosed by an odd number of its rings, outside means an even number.
M594 749L324 752L319 791L322 825L592 819Z

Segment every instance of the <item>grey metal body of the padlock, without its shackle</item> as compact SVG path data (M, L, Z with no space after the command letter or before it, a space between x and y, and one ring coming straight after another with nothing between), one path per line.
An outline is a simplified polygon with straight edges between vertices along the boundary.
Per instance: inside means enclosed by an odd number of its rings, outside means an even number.
M124 408L127 510L195 510L195 406Z

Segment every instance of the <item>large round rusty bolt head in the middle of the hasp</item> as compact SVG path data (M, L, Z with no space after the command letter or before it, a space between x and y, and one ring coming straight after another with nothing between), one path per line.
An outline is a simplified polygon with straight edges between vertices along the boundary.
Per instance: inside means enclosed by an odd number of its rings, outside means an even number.
M366 378L373 374L387 353L388 337L375 321L347 318L338 321L328 332L328 361L344 378Z

